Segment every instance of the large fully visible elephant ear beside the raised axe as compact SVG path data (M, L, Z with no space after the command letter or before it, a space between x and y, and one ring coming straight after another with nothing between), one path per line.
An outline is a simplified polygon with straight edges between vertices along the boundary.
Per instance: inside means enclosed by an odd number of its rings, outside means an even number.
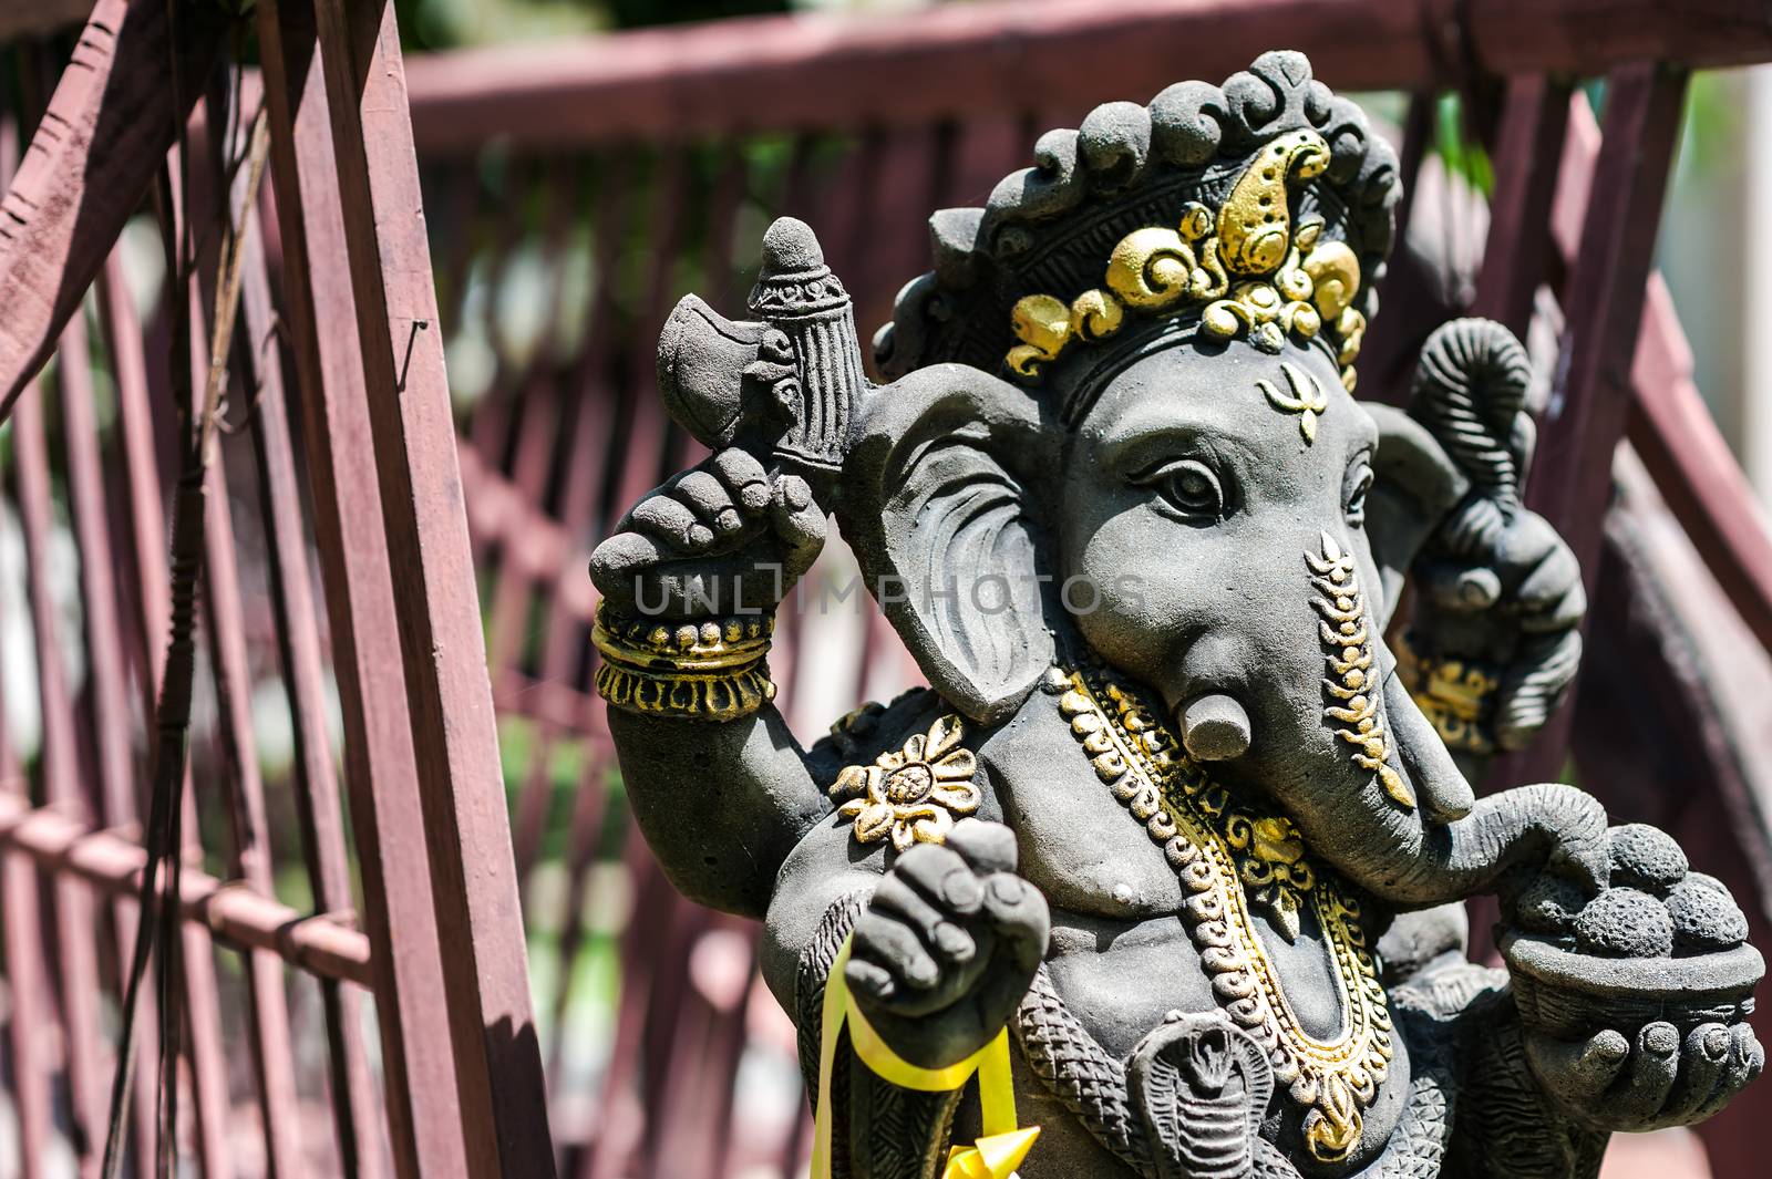
M966 365L870 391L838 522L930 687L968 719L1008 717L1053 660L1040 505L1056 430L1031 397Z

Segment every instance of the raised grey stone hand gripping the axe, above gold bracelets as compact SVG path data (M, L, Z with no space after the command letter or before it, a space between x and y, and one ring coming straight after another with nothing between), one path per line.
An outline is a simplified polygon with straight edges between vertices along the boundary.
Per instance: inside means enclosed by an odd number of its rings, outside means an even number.
M629 618L773 613L824 528L803 478L728 448L647 492L590 556L590 579Z

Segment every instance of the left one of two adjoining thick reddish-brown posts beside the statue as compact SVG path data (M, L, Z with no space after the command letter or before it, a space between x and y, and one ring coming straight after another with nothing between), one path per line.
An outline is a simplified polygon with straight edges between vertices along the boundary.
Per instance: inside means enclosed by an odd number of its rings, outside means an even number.
M310 5L260 0L259 44L271 112L284 308L344 719L363 928L374 947L393 1170L400 1179L461 1175L466 1158L455 1057L439 1014L447 1006L443 954Z

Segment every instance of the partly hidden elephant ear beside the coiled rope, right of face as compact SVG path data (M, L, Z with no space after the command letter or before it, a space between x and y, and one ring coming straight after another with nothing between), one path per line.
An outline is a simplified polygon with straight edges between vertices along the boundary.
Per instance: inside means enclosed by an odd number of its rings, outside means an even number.
M1384 586L1384 625L1391 621L1416 552L1471 482L1434 434L1395 405L1363 402L1379 423L1379 451L1366 494L1366 540Z

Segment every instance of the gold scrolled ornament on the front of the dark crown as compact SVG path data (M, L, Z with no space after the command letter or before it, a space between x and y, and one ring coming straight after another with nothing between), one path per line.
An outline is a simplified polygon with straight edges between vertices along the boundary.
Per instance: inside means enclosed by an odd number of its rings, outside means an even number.
M1074 343L1120 331L1127 313L1203 306L1201 331L1217 340L1247 331L1263 352L1279 352L1288 333L1310 342L1327 326L1341 384L1352 391L1366 331L1366 317L1352 306L1359 258L1345 243L1322 241L1318 218L1301 221L1294 234L1286 200L1288 184L1311 181L1327 166L1322 135L1281 135L1249 161L1216 214L1193 200L1175 228L1150 225L1122 237L1100 287L1070 303L1049 294L1022 297L1010 312L1021 340L1005 356L1010 370L1037 377Z

